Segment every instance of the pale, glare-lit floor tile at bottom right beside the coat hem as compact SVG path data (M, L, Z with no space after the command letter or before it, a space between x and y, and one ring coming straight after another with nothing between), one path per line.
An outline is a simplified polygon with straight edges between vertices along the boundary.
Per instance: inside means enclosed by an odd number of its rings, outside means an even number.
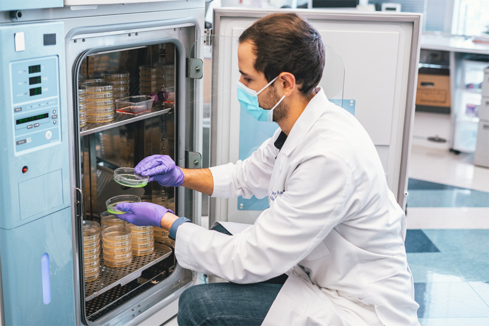
M419 318L489 317L489 306L467 282L415 283Z

